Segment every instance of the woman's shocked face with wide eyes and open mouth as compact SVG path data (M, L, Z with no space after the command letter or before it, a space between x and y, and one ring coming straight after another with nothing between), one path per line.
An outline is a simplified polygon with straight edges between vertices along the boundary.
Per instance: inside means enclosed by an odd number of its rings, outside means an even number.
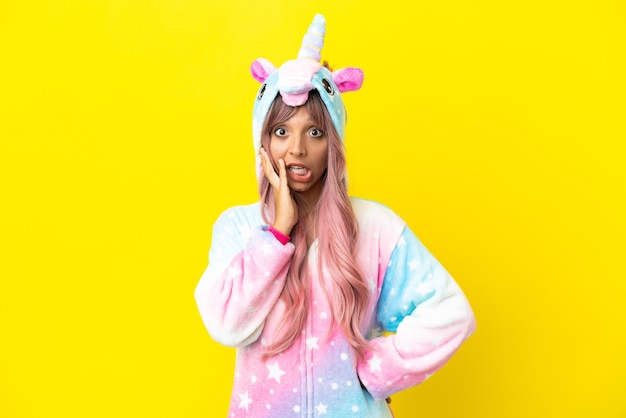
M270 151L274 163L285 161L287 184L310 202L322 191L322 177L328 166L326 132L300 106L288 120L271 128Z

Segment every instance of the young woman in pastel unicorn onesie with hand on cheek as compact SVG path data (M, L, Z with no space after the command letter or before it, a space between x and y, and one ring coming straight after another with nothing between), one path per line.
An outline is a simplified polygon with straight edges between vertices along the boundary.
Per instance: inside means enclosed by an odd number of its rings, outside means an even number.
M237 347L231 417L390 417L390 395L439 369L474 330L463 292L390 209L348 196L341 92L317 15L298 59L252 64L261 200L225 211L196 289Z

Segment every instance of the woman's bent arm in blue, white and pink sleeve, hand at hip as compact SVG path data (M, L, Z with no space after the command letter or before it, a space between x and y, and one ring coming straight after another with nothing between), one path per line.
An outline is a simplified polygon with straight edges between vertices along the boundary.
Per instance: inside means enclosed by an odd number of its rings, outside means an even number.
M393 334L373 339L357 364L375 399L424 381L475 328L463 291L406 227L385 273L377 320Z

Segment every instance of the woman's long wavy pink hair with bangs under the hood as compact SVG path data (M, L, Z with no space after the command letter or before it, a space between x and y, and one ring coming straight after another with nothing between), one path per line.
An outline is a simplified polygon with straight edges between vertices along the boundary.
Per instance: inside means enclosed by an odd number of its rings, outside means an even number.
M356 263L358 224L348 196L345 151L319 93L310 91L303 106L326 134L328 166L321 179L319 200L314 207L306 208L312 214L308 219L313 224L304 225L303 217L299 217L291 231L295 253L281 294L286 312L278 326L278 337L266 348L265 356L289 348L304 329L310 304L306 238L307 231L314 231L318 238L318 272L326 277L321 283L332 310L331 326L338 324L355 352L363 357L363 350L369 344L360 327L369 303L369 289ZM285 105L280 95L276 97L263 126L261 145L265 150L270 150L270 133L274 127L288 120L297 110ZM275 215L274 194L265 176L260 176L259 192L263 219L271 225ZM301 211L306 203L297 192L292 191L291 195Z

